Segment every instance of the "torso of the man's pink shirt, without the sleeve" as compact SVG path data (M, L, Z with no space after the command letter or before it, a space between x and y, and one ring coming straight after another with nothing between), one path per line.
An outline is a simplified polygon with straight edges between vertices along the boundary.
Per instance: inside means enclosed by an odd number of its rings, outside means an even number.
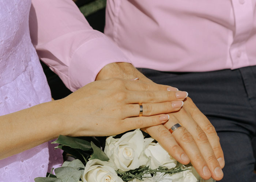
M256 0L108 0L105 34L135 67L202 72L256 65Z

